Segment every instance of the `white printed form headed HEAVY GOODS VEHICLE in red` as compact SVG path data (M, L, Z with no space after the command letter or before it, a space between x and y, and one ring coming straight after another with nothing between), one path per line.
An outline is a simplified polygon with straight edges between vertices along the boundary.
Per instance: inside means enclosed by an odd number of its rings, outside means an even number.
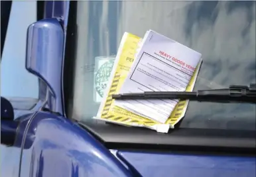
M119 93L185 91L201 59L198 53L149 30ZM115 105L164 124L178 100L115 100Z

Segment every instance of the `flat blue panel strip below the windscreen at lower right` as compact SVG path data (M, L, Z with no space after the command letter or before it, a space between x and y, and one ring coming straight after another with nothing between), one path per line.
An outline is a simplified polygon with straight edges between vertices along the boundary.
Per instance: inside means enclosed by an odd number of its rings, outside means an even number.
M156 152L117 152L143 176L147 177L255 177L255 157L218 155L178 155Z

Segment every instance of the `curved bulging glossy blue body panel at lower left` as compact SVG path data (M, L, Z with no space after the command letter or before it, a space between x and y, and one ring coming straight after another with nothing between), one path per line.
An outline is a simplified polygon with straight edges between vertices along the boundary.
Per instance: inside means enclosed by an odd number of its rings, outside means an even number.
M22 150L21 177L135 176L90 133L70 120L38 112L29 121L31 125L25 132L25 144L29 145Z

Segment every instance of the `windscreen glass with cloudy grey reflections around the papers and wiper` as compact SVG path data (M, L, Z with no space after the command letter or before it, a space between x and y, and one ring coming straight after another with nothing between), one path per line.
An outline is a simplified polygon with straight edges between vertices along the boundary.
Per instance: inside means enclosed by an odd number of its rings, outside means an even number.
M255 1L80 1L72 117L96 115L96 57L152 29L202 53L195 90L255 83ZM182 127L255 129L253 104L190 102Z

